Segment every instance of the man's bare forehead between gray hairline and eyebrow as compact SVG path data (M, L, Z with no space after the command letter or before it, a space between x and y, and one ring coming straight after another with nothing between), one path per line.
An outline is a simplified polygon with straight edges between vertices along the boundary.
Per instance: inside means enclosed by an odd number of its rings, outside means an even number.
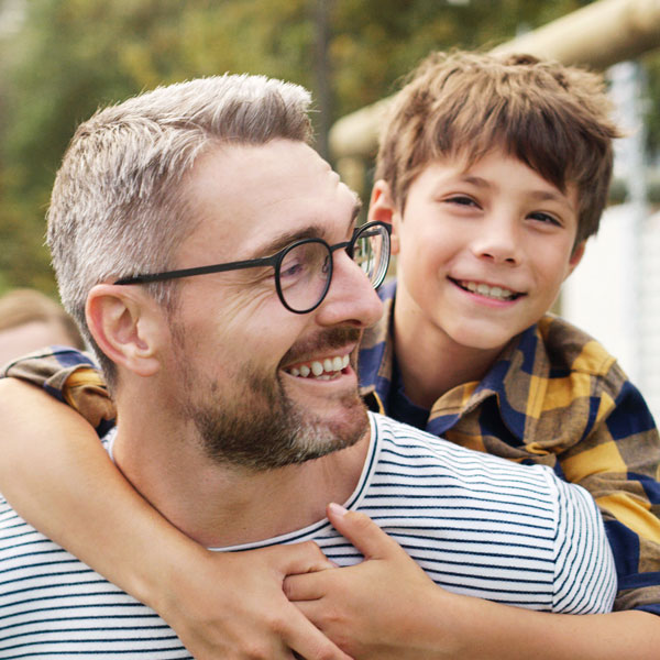
M205 155L189 178L195 231L234 258L298 238L342 240L360 211L358 196L304 142L222 145ZM302 235L305 234L305 235ZM340 237L333 239L333 237Z

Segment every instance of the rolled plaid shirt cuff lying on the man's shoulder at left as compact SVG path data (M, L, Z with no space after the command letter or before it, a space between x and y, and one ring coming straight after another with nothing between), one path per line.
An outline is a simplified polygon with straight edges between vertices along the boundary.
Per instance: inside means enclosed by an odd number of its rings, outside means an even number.
M76 349L51 346L7 364L0 377L21 378L80 413L106 435L114 426L116 408L92 356Z

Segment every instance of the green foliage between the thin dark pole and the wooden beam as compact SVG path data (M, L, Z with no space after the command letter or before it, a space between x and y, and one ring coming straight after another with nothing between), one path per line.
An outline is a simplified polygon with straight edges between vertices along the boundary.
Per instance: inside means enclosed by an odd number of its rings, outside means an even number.
M336 2L331 57L341 117L395 90L430 51L488 48L588 1L472 0L453 4L413 0Z

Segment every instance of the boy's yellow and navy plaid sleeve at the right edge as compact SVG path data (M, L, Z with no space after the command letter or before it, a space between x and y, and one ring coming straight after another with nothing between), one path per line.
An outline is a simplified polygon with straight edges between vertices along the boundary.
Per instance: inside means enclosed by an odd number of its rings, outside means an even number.
M591 493L605 520L615 609L660 615L660 437L639 391L616 366L609 376L609 391L594 397L590 432L559 455L559 468Z

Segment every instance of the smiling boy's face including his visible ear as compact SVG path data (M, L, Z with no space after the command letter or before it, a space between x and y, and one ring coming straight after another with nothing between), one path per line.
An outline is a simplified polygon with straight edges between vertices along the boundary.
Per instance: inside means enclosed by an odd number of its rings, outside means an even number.
M403 216L378 182L370 213L393 222L397 333L441 350L498 352L551 307L584 251L573 249L575 188L562 193L499 150L468 169L429 164Z

